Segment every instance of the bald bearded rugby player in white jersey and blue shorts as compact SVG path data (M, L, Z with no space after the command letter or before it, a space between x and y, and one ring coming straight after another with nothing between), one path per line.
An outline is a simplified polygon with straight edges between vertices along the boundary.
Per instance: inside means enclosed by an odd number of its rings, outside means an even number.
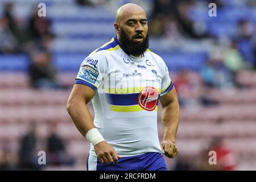
M142 7L121 6L117 33L81 63L67 110L91 143L88 170L167 171L163 154L174 158L179 103L163 59L148 49L148 22ZM88 107L92 100L94 119ZM158 139L158 101L163 142Z

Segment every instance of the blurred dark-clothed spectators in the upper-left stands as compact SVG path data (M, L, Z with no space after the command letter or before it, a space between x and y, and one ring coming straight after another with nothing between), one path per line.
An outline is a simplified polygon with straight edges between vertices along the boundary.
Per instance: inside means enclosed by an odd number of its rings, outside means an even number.
M65 89L56 81L56 68L52 64L52 41L55 35L51 31L51 21L38 16L38 9L22 22L13 16L13 2L5 3L0 17L0 54L25 53L30 57L31 86L35 89Z

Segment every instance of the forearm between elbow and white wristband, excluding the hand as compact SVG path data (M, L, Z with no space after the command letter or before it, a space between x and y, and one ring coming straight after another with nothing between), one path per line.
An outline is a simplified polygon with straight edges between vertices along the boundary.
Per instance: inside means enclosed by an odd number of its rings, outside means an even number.
M82 136L85 137L85 134L92 128L94 128L93 119L90 115L88 107L85 102L81 101L69 101L67 105L67 110L69 115L72 118L72 121L75 123L77 129L80 131Z

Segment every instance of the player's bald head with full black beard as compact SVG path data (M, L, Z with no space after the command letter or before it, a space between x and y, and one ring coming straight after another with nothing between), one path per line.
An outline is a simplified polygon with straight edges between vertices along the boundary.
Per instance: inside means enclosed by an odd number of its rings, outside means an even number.
M115 32L123 51L140 56L148 48L148 26L145 11L141 6L127 3L117 10Z

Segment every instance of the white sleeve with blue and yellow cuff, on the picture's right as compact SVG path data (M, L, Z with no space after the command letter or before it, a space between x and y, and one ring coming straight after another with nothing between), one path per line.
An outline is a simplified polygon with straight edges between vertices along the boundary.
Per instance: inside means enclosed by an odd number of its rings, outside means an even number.
M162 70L163 78L162 78L162 83L161 83L160 96L164 96L165 94L170 92L172 90L172 88L174 88L174 84L170 78L168 68L167 68L166 64L164 63L164 61L162 61L162 63L163 64L162 64L161 70Z

